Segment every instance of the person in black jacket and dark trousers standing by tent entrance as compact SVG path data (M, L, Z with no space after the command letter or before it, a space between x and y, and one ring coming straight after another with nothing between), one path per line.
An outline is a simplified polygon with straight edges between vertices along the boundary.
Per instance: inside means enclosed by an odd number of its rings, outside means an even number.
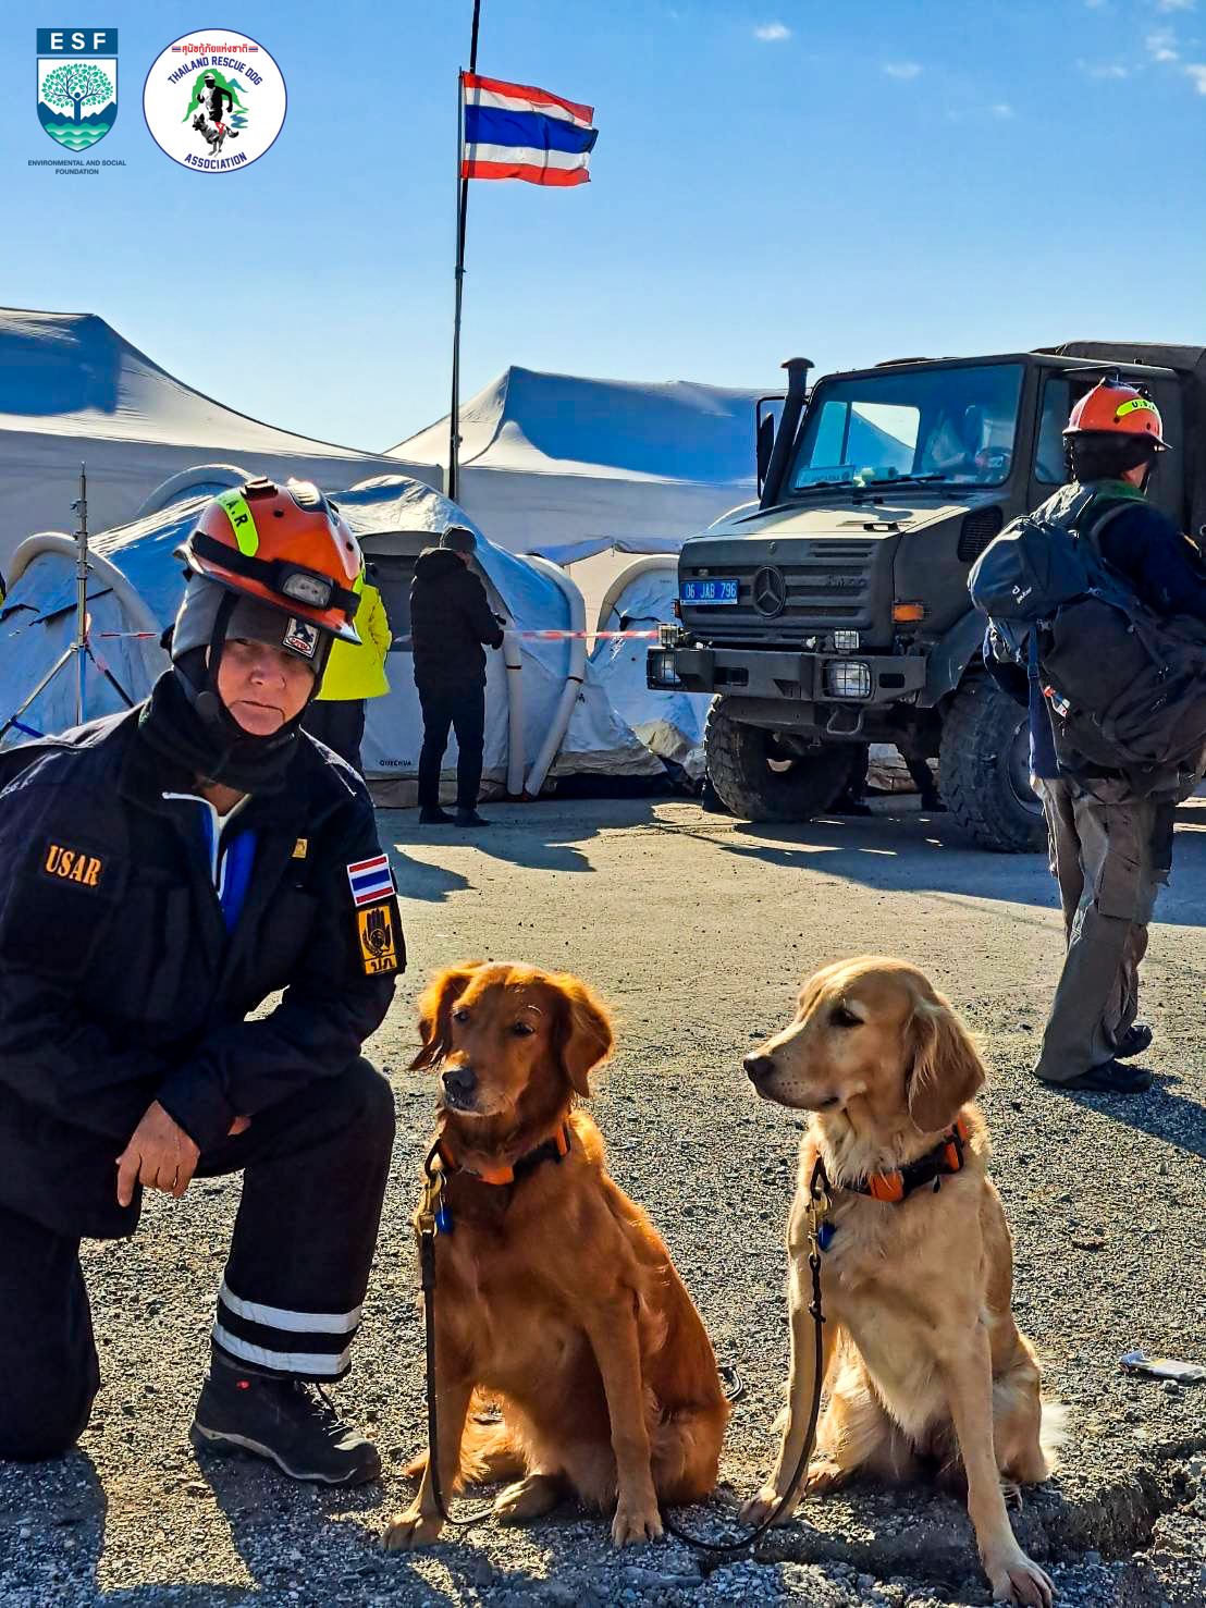
M498 617L490 613L486 587L470 569L476 547L473 531L452 526L439 547L418 555L410 582L410 640L423 709L418 818L425 827L452 820L439 806L439 773L450 727L457 733L457 825L490 825L478 814L486 743L482 645L502 648L503 634Z

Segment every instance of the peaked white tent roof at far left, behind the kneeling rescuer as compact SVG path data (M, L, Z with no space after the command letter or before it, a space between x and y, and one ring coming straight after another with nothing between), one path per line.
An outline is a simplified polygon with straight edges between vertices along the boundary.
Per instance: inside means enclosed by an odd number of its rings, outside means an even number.
M238 362L214 384L236 391ZM211 400L92 314L0 309L0 569L31 532L72 527L80 461L92 531L248 474L296 474L333 489L400 470Z

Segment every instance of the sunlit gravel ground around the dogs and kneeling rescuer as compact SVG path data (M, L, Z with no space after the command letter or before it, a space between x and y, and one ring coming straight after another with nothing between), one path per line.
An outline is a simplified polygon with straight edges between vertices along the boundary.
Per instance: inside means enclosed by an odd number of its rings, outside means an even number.
M595 1114L616 1179L666 1235L722 1360L740 1364L724 1478L745 1495L772 1457L786 1373L781 1235L802 1124L753 1098L740 1060L786 1018L806 973L862 950L923 965L986 1036L1018 1315L1071 1409L1063 1473L1016 1520L1024 1544L1066 1603L1201 1605L1206 1386L1132 1378L1118 1359L1140 1344L1206 1360L1206 802L1182 812L1153 929L1158 1087L1137 1101L1060 1097L1026 1077L1061 949L1042 860L970 851L942 817L891 809L753 828L682 802L498 806L476 841L383 812L412 971L370 1053L391 1069L400 1121L357 1367L338 1401L381 1446L384 1489L297 1487L252 1460L193 1454L238 1183L193 1185L180 1204L156 1196L132 1243L85 1251L105 1389L80 1449L0 1465L0 1608L986 1603L966 1518L929 1489L810 1502L753 1560L719 1568L677 1542L613 1553L606 1526L574 1510L412 1557L378 1542L423 1436L407 1217L434 1085L405 1066L428 970L466 955L566 966L617 1010ZM722 1536L732 1508L682 1518Z

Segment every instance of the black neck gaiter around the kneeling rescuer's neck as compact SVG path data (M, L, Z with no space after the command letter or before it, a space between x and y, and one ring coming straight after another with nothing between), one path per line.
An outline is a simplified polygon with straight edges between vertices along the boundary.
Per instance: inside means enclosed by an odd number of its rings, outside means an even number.
M301 717L273 736L251 736L220 706L217 719L203 720L190 691L178 664L164 671L138 716L143 741L201 781L238 793L280 793L297 753Z

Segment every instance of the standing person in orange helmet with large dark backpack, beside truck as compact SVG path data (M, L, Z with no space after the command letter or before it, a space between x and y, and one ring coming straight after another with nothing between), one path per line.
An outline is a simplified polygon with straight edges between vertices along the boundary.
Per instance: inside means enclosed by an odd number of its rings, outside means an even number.
M1172 815L1201 777L1203 741L1185 741L1171 727L1185 711L1182 732L1203 728L1206 568L1195 544L1145 500L1156 457L1169 450L1151 400L1105 379L1073 408L1064 442L1073 482L1019 521L1031 535L1045 521L1055 535L1044 576L1047 617L1034 608L1037 587L1029 614L1019 606L1010 619L1008 601L989 606L986 643L992 674L1029 703L1034 786L1068 942L1034 1076L1060 1089L1142 1093L1151 1074L1129 1064L1151 1044L1151 1029L1135 1019L1138 965L1172 865ZM1082 568L1060 597L1068 558ZM986 580L973 569L981 606L991 597ZM1028 587L1011 590L1024 598ZM1174 616L1183 637L1169 642ZM1002 637L1018 646L1019 635L1029 666L1000 662L994 648ZM1134 669L1127 653L1137 654ZM1148 695L1148 677L1158 680L1166 666L1180 696ZM1137 756L1145 762L1130 762Z

